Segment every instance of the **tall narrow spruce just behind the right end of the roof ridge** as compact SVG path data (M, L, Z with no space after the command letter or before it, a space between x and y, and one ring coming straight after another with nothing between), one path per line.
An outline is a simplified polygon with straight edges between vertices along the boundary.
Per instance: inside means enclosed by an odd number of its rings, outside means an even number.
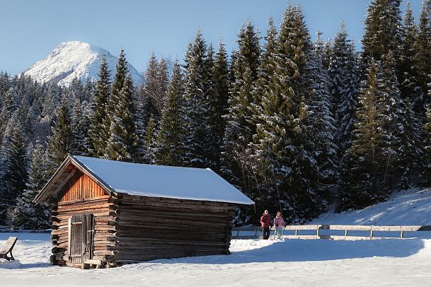
M186 130L185 164L195 168L211 166L209 103L205 96L207 45L198 30L185 55L184 106Z

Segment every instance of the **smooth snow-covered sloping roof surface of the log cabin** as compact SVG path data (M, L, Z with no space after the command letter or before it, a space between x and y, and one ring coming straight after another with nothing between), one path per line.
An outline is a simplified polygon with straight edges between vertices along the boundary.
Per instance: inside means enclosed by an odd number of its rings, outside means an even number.
M124 163L85 156L71 158L113 192L145 197L254 204L245 194L210 169Z

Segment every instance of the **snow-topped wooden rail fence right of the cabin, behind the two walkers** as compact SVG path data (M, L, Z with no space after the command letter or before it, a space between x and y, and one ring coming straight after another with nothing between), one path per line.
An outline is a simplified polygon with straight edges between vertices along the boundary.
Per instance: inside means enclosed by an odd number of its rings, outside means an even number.
M257 239L262 238L260 227L234 227L232 228L232 239ZM275 230L275 228L271 228ZM294 231L294 235L284 235L285 230ZM314 235L300 235L303 230L314 230ZM324 235L322 230L340 230L344 235ZM369 236L350 235L350 231L368 231ZM399 238L405 238L406 232L431 231L431 225L409 225L409 226L374 226L374 225L287 225L283 228L283 238L292 239L332 239L332 240L358 240L358 239L384 239L393 238L385 236L374 236L374 232L399 233ZM240 234L247 233L247 234ZM328 233L328 232L327 232ZM397 235L398 237L398 235Z

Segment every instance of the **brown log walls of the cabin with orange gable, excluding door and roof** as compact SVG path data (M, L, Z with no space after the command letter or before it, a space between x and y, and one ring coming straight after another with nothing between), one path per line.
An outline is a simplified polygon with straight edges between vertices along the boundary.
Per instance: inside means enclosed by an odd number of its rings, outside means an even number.
M127 194L110 197L80 174L70 178L57 204L52 204L52 264L81 266L69 257L69 218L86 213L95 218L92 260L103 264L229 254L231 204Z

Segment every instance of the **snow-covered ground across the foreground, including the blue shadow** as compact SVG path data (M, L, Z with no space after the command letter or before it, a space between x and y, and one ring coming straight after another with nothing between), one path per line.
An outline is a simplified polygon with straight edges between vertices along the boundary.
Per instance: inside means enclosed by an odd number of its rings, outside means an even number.
M0 233L0 245L10 235ZM431 240L423 239L233 240L227 256L81 270L48 263L48 234L17 235L14 255L21 266L0 267L0 286L429 286L431 281Z

